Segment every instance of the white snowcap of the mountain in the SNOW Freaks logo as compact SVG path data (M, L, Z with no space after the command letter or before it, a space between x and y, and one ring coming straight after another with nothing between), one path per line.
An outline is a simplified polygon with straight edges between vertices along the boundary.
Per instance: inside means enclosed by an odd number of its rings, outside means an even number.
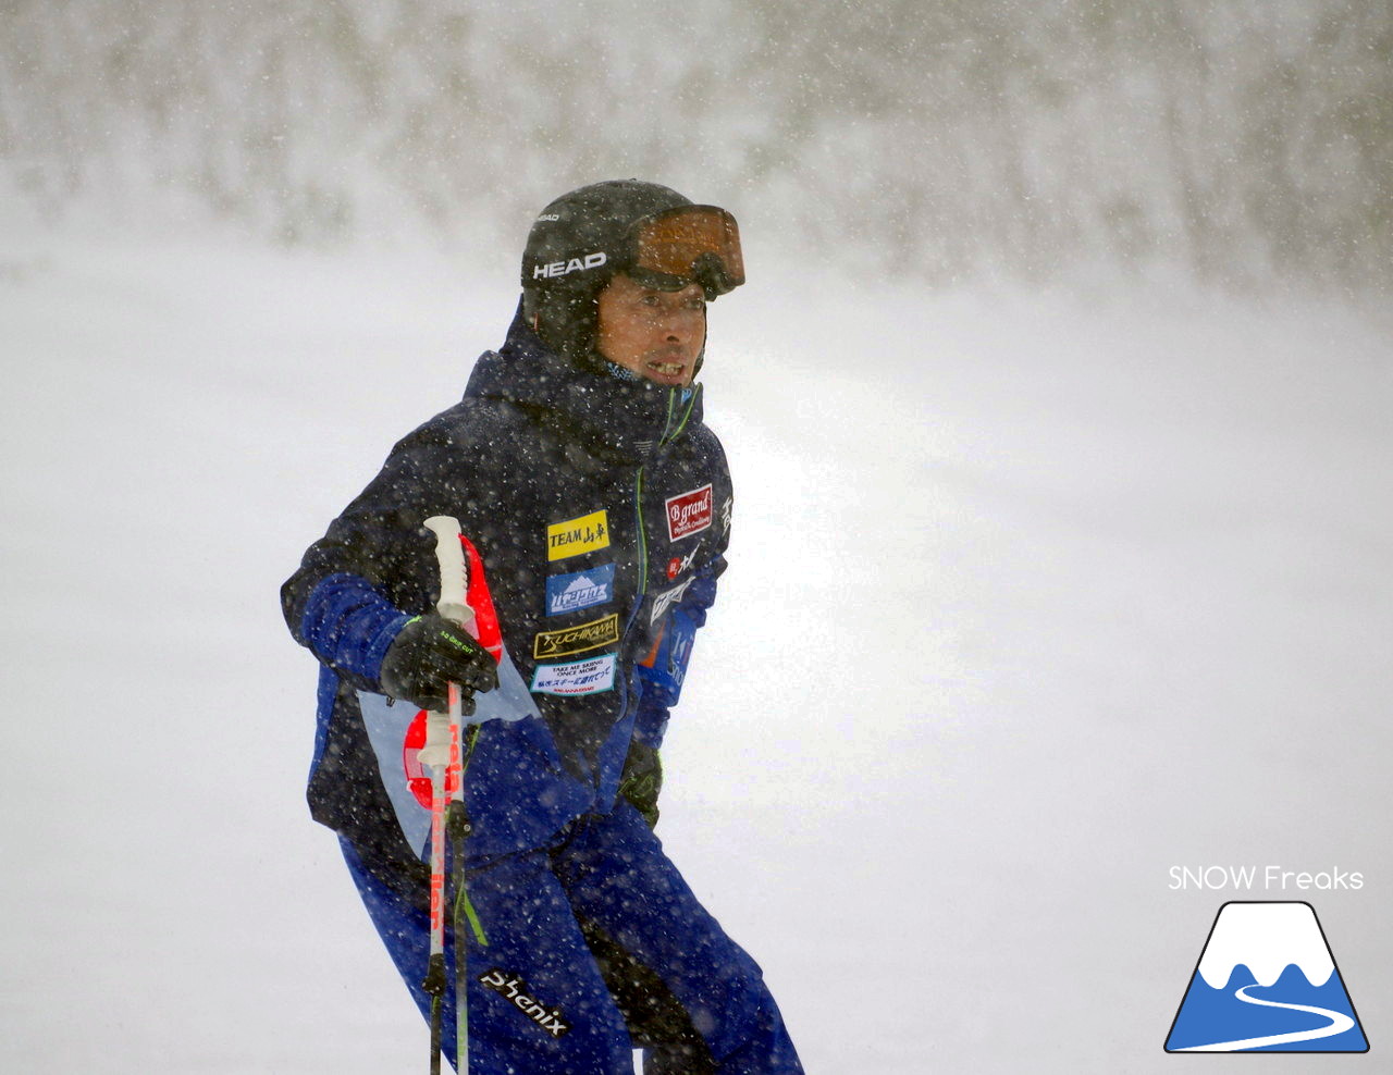
M1211 989L1223 989L1238 964L1259 986L1273 984L1291 964L1312 986L1323 986L1334 973L1321 923L1311 905L1301 902L1227 904L1205 944L1199 975Z

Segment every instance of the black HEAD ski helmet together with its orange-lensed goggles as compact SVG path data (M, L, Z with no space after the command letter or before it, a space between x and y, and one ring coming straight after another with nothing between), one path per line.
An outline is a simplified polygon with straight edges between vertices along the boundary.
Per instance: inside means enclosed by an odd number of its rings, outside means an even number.
M522 313L573 362L595 348L596 301L616 273L710 301L745 281L736 219L667 187L609 180L563 194L538 216L522 251Z

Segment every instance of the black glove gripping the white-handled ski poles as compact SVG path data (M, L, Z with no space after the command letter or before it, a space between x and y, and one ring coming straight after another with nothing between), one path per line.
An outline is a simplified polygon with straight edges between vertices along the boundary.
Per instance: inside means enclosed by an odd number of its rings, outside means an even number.
M408 620L397 632L378 678L393 698L437 713L447 705L446 684L457 682L464 688L464 712L472 713L474 700L468 695L497 686L499 670L489 652L462 627L426 613Z

